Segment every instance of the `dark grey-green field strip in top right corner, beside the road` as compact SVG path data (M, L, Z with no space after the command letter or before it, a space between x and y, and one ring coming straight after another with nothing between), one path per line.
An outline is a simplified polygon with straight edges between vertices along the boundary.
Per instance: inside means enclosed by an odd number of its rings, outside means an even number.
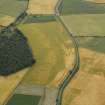
M62 15L104 14L105 3L94 3L85 0L64 0L59 10Z

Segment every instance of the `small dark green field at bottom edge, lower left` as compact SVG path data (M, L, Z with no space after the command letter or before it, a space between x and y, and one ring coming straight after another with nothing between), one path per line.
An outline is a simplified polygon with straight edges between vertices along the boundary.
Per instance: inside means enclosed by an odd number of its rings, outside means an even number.
M15 94L6 105L38 105L40 96Z

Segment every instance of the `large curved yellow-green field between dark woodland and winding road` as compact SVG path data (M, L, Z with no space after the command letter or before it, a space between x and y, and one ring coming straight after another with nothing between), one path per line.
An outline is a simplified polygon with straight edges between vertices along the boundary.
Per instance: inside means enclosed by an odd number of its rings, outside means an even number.
M66 63L72 53L69 45L73 45L72 42L70 42L69 35L56 21L21 24L19 29L29 39L29 44L36 58L36 64L25 76L23 84L52 84L55 86L55 81L58 81L58 85L60 82L58 74L60 73L62 75L64 72L67 72L67 65L69 65L69 63ZM68 56L66 54L67 51ZM73 59L70 63L73 63L72 61Z

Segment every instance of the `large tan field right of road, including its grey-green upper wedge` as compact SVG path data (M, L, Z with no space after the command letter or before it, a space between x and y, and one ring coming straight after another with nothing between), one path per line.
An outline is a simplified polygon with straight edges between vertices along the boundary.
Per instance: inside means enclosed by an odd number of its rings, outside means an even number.
M62 105L104 105L105 38L78 37L80 70L65 89Z

